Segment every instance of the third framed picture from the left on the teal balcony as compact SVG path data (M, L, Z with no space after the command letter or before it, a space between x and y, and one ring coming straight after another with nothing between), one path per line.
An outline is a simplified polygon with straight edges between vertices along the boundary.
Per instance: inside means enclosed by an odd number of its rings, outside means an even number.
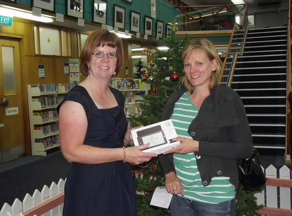
M92 22L107 24L108 0L93 0Z

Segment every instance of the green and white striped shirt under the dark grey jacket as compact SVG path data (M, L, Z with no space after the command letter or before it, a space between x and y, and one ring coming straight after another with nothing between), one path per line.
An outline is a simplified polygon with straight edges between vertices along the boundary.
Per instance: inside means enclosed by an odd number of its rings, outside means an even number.
M192 139L187 130L198 112L199 109L194 106L185 92L175 103L170 117L178 136ZM213 177L208 186L202 185L194 152L174 153L173 162L177 177L183 184L183 198L207 203L219 203L235 198L235 187L229 182L229 177Z

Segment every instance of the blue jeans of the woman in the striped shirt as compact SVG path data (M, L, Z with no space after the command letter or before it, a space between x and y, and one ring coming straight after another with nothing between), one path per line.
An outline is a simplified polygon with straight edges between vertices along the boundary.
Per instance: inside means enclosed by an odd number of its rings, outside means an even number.
M217 204L198 202L173 195L171 216L234 216L235 199Z

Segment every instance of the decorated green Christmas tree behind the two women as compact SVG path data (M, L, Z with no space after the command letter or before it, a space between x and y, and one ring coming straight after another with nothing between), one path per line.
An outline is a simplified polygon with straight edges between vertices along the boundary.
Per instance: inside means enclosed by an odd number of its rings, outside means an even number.
M175 21L174 21L175 23ZM176 23L177 24L177 23ZM146 81L152 87L152 93L143 96L140 116L132 117L133 126L150 125L160 121L163 109L168 97L176 90L183 87L183 62L182 53L184 46L189 42L185 35L177 38L175 35L176 26L171 29L171 36L163 40L154 39L158 45L168 47L168 50L156 50L152 54L150 77ZM139 166L131 166L136 174L135 186L137 191L137 206L140 216L166 216L170 215L168 209L162 209L150 205L154 190L158 186L164 186L164 174L158 158L152 158L148 163ZM236 203L237 216L258 215L256 210L262 206L256 204L256 198L250 191L245 191L239 185L238 199Z

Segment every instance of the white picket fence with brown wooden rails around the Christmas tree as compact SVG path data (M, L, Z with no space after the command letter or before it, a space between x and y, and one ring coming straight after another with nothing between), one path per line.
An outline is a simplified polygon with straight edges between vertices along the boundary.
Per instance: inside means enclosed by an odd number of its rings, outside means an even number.
M266 216L292 216L292 171L284 165L280 168L277 178L277 170L271 165L264 172L267 178L265 189L254 194L257 203L265 206L258 213ZM35 190L33 196L26 194L22 202L15 199L12 206L5 203L0 216L62 216L64 186L64 180L60 179L58 184L53 182L50 188L44 185L41 192Z

